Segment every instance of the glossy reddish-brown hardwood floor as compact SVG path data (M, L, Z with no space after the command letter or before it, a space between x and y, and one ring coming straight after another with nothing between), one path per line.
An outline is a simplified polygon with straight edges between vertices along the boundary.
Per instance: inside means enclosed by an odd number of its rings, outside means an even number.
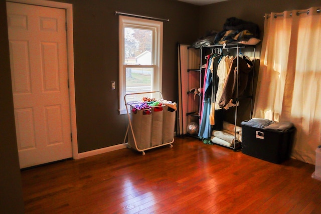
M186 137L22 171L26 213L321 213L314 165Z

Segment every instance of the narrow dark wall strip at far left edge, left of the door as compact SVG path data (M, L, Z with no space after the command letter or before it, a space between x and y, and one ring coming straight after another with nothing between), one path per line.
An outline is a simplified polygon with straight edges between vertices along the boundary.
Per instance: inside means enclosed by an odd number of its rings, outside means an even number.
M0 213L24 213L11 86L6 2L0 1Z

